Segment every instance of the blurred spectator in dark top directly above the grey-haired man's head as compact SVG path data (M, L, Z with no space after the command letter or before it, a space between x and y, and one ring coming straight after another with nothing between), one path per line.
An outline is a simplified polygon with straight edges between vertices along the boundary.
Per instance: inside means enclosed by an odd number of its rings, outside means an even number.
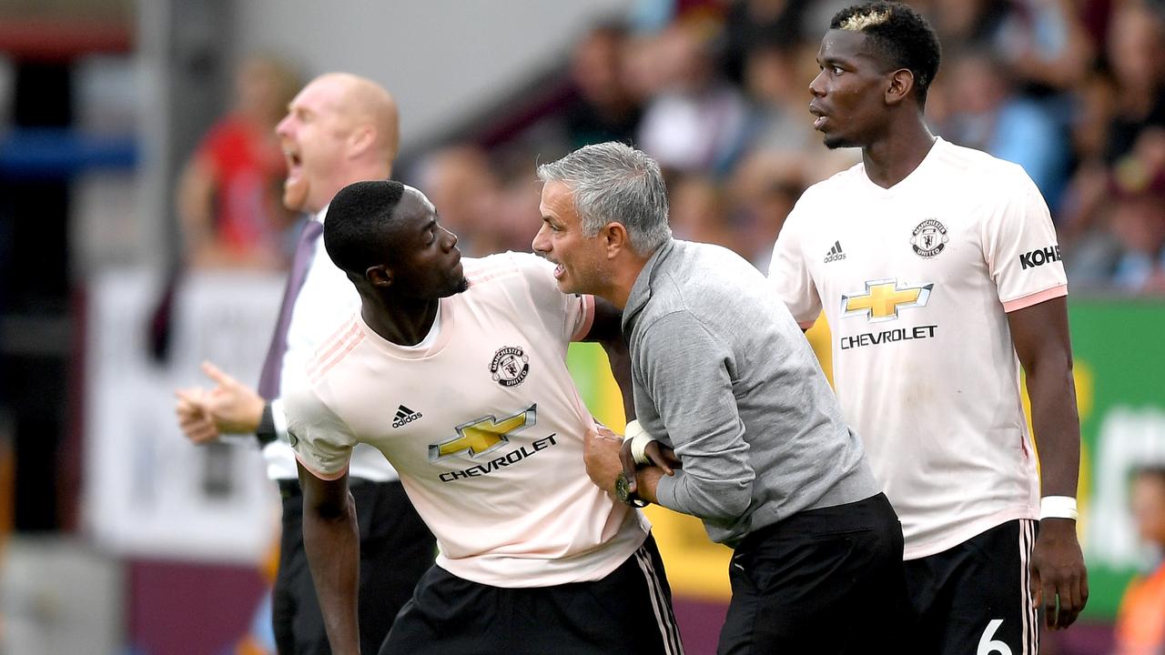
M578 98L565 112L570 149L634 139L643 110L624 82L627 38L623 27L603 23L574 45L571 82Z

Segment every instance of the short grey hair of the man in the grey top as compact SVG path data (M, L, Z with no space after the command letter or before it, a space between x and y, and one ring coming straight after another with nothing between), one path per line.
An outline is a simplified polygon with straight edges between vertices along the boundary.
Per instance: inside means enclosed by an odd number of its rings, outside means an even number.
M643 255L671 238L659 164L630 146L617 141L584 146L539 165L538 179L571 188L584 237L594 237L608 223L621 223L631 248Z

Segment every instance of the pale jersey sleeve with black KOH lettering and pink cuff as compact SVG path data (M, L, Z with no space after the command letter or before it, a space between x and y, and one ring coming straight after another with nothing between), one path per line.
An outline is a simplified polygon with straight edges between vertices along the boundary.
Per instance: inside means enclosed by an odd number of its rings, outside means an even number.
M1068 293L1047 203L1018 167L1010 192L986 213L982 228L988 274L1004 311Z

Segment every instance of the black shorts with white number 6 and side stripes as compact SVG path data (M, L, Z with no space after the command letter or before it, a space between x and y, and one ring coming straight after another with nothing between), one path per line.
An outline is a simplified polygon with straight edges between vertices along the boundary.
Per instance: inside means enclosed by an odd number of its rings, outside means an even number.
M911 653L945 655L1039 652L1029 590L1037 521L1008 521L959 545L906 562Z

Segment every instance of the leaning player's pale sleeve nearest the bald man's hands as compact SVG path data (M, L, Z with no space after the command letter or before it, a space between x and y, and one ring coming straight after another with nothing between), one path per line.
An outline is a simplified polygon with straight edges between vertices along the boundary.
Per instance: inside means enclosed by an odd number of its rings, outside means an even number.
M355 436L316 392L296 385L283 396L288 442L304 469L324 480L334 480L348 470Z

